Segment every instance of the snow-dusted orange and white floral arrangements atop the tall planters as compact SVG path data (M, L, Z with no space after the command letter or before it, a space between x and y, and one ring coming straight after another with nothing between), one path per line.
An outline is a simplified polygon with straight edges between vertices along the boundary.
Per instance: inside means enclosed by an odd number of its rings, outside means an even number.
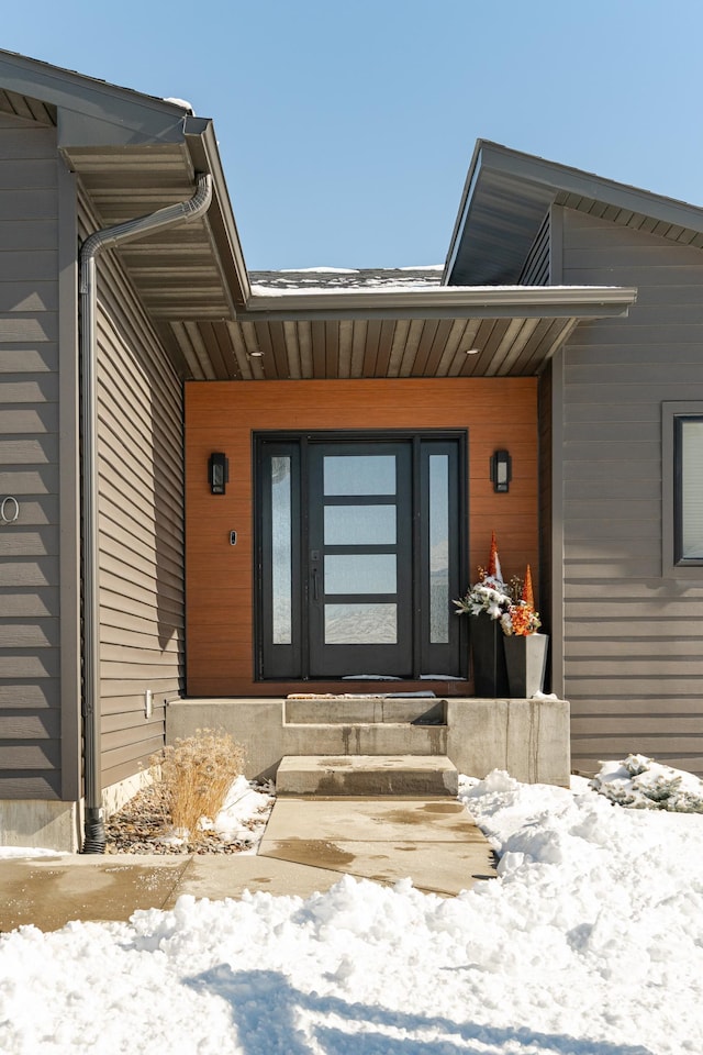
M457 614L479 615L486 612L491 619L500 619L503 633L524 637L536 634L542 622L535 611L529 565L524 580L513 576L509 582L503 580L501 563L498 556L495 532L491 535L491 553L488 568L479 568L479 580L469 591L454 601Z

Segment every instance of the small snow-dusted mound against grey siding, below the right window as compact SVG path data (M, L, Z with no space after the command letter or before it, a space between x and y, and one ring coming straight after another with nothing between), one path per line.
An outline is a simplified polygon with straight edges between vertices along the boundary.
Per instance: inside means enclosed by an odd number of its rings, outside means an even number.
M611 802L635 810L703 813L703 780L645 755L604 763L591 780L591 787Z

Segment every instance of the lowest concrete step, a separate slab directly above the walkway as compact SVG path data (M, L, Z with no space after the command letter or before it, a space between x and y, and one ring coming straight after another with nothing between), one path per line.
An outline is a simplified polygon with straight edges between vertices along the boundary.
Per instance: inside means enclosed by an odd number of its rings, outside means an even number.
M278 795L450 795L456 766L444 755L286 755Z

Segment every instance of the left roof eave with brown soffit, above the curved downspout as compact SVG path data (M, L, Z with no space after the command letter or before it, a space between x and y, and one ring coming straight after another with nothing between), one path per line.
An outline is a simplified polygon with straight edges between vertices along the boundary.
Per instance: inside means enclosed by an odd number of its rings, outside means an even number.
M202 219L116 251L146 310L174 320L234 318L249 295L212 121L170 102L0 52L0 107L56 125L57 146L101 226L188 200L213 177Z

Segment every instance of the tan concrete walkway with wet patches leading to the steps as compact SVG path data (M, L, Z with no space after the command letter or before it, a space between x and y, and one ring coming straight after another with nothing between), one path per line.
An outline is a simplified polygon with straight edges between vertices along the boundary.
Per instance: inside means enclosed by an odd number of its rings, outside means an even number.
M276 800L256 855L71 855L0 860L0 932L33 923L129 920L181 895L239 898L245 890L309 897L342 875L453 897L495 876L491 848L456 799Z

